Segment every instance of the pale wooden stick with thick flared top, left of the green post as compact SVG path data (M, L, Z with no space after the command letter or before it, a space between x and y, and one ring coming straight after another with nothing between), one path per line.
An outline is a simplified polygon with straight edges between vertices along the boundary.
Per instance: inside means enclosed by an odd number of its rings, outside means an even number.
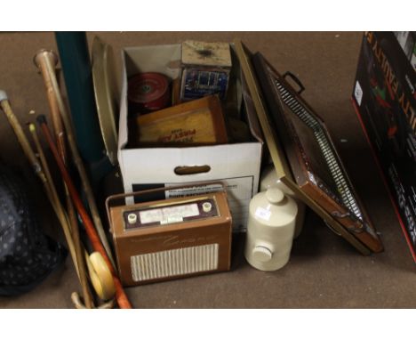
M55 74L55 69L54 69L56 66L56 62L58 61L58 58L55 53L52 53L52 51L41 50L38 53L36 53L34 61L35 61L37 68L41 69L42 76L44 77L44 84L45 86L47 86L47 92L53 94L54 99L52 99L52 101L56 101L58 108L60 110L60 117L62 118L63 124L65 126L65 130L67 133L69 149L71 150L71 154L72 154L74 163L76 165L76 169L78 170L78 174L81 178L83 190L84 190L86 199L88 201L88 206L90 207L90 210L91 210L92 219L94 221L94 228L96 229L100 237L102 246L106 250L110 263L114 267L115 262L111 254L111 248L109 247L106 233L101 223L100 214L98 212L98 208L95 203L95 198L92 193L90 180L88 179L88 176L86 174L83 160L81 156L79 155L78 149L76 148L76 140L74 137L72 124L71 124L67 109L65 108L65 105L62 101L62 97L60 95L60 87L58 85L58 81L56 79L56 74ZM49 94L48 94L48 100L49 100ZM54 105L55 105L54 102L52 102L51 107L53 107Z

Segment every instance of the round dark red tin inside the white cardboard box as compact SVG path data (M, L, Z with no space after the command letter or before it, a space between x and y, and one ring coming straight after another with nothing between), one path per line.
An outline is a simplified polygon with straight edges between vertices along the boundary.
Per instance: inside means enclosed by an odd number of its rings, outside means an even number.
M132 109L145 113L164 109L170 105L169 80L156 72L140 73L129 79L127 97Z

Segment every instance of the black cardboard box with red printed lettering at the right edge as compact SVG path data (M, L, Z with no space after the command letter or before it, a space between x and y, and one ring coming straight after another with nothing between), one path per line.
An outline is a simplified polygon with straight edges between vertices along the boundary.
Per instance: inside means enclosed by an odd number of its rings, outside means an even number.
M366 32L353 103L416 261L414 32Z

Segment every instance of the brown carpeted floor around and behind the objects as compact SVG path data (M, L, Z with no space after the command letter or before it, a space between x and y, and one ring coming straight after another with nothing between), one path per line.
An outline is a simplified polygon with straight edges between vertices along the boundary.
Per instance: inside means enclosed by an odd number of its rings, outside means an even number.
M88 33L91 44L92 36ZM243 241L236 240L233 270L191 279L127 288L137 308L414 308L415 267L383 187L372 154L351 105L361 33L186 33L99 32L120 48L134 45L179 43L187 38L231 41L240 37L262 52L276 69L291 70L306 86L304 97L324 117L352 181L386 250L362 256L324 223L308 212L304 231L293 245L284 269L252 269L242 255ZM44 85L32 58L40 48L56 50L52 33L0 34L3 53L0 88L9 93L13 109L27 121L29 109L47 112ZM20 169L26 160L5 117L0 115L0 154ZM346 140L347 142L340 142ZM41 195L36 193L36 195ZM40 196L42 197L42 196ZM40 215L45 214L39 212ZM32 292L0 298L2 308L72 308L71 292L79 290L73 265L54 272Z

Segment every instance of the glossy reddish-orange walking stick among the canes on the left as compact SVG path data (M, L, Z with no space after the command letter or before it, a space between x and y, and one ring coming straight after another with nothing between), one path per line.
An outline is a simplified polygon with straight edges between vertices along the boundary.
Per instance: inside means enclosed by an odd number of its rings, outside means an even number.
M42 131L44 132L44 137L52 150L53 157L55 158L58 167L60 168L60 174L62 175L65 183L67 184L71 198L73 198L74 204L76 206L76 211L78 212L78 214L81 217L81 220L84 223L85 231L87 232L88 238L92 243L92 247L94 248L94 250L100 252L105 262L107 263L108 268L111 271L111 274L113 275L114 284L116 287L116 301L118 306L120 308L132 308L132 304L130 304L128 297L124 292L124 288L121 284L121 281L116 274L116 269L110 262L107 252L100 241L100 237L94 228L92 220L86 212L83 202L76 190L76 187L74 186L72 179L68 174L67 168L65 167L65 165L62 162L62 159L60 158L60 154L56 149L56 146L52 140L52 135L49 131L48 125L46 124L46 118L41 115L38 116L36 119L39 125L41 126Z

